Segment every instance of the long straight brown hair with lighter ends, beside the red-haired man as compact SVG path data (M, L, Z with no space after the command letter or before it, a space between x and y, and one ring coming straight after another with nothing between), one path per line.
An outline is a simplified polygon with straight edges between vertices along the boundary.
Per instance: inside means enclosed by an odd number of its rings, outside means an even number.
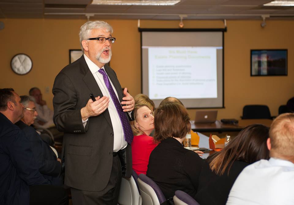
M209 162L210 169L222 175L232 166L232 162L240 160L254 163L260 159L269 159L266 140L269 128L264 125L249 125Z

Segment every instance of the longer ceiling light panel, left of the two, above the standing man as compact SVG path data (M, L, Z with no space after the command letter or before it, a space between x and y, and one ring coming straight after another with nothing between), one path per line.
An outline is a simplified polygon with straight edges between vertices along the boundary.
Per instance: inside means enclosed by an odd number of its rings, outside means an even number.
M138 6L172 6L181 0L93 0L98 5L138 5Z

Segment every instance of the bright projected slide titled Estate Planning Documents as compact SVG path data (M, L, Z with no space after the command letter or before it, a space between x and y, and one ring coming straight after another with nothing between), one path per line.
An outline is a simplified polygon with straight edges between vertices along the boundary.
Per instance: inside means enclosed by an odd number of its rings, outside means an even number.
M217 48L148 47L149 98L217 98Z

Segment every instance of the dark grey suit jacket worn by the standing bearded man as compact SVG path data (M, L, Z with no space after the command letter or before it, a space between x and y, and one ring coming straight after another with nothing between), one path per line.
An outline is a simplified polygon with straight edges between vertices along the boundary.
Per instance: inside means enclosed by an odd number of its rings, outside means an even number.
M118 93L119 101L123 101L122 88L114 70L107 65L104 68ZM62 156L65 156L65 184L85 191L103 190L111 173L113 128L108 109L90 117L85 128L83 126L81 108L86 106L90 93L95 97L103 96L84 56L60 71L52 92L53 121L56 128L64 132ZM126 148L126 162L125 175L130 177L130 145Z

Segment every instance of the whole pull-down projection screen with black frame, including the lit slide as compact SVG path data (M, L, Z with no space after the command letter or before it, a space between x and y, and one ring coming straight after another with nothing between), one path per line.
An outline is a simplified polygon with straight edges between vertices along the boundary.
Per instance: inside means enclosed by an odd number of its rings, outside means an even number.
M139 29L142 93L158 107L176 97L187 108L224 107L224 29Z

